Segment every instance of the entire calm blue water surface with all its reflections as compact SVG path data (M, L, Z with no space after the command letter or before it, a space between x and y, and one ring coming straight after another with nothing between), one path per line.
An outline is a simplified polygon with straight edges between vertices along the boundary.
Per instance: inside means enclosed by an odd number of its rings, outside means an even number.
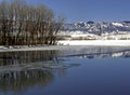
M130 48L0 53L0 95L130 95Z

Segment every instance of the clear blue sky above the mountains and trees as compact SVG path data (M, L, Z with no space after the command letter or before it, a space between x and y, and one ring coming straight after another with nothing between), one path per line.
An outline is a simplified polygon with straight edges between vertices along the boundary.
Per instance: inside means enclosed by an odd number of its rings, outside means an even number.
M74 22L120 22L130 21L130 0L26 0L28 3L43 3L55 14Z

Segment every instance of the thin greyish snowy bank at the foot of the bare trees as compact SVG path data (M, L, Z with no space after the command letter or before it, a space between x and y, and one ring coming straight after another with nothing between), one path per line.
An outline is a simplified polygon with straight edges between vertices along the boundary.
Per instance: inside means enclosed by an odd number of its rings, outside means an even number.
M78 49L86 48L86 45L79 45ZM16 51L53 51L53 50L75 50L75 45L39 45L39 46L0 46L0 52L16 52Z

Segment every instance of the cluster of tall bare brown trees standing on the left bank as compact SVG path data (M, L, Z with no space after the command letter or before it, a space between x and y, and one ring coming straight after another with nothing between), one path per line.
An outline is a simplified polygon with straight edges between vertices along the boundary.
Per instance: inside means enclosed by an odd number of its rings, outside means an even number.
M54 44L64 18L43 4L23 0L0 3L0 45Z

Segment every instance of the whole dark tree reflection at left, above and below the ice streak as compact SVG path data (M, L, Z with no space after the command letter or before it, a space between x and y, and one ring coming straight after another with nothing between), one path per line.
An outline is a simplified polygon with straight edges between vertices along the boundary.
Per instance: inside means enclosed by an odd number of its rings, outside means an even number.
M51 62L47 66L55 64L53 59L58 53L58 51L0 53L0 91L2 93L12 92L21 94L36 85L48 85L54 80L54 69L40 66L44 66L44 62ZM40 69L35 68L38 65ZM30 68L24 68L26 66L30 66ZM61 74L65 72L64 68L58 68L57 70Z

